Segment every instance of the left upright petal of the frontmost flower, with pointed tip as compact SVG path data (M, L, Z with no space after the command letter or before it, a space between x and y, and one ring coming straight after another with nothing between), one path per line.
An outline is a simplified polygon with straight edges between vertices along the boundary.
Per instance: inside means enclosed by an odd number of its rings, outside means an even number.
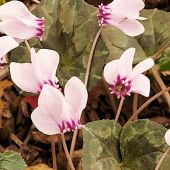
M56 124L60 123L63 113L64 97L60 90L51 85L44 85L38 99L38 108L44 111L47 117L55 120Z

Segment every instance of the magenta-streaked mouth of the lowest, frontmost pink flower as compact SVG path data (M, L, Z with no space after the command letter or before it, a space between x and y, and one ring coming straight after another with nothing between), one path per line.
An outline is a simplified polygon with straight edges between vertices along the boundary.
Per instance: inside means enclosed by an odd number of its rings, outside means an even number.
M71 120L70 122L62 121L61 124L58 124L58 127L60 128L61 133L65 133L80 129L83 125L81 125L80 121L76 122L75 120Z

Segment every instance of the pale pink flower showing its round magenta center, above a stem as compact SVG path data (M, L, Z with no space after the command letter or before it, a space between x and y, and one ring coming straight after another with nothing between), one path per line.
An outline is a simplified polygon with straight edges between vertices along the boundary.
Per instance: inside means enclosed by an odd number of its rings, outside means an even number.
M137 64L132 70L135 48L127 49L120 59L113 60L104 67L104 78L110 85L111 94L124 98L130 93L139 93L145 97L150 93L150 80L143 74L154 65L148 58Z

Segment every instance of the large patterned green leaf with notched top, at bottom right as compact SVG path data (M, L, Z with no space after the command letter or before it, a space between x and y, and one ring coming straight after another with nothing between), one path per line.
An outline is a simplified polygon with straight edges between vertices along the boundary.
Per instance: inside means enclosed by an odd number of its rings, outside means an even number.
M130 122L124 128L111 120L88 123L83 129L83 169L154 170L168 147L165 132L150 120ZM169 156L161 168L168 166Z

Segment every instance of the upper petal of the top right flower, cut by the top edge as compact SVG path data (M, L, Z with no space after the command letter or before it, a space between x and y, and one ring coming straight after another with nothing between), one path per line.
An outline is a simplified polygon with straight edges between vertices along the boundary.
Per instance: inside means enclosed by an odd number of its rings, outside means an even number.
M122 14L124 14L129 19L135 19L139 16L139 11L145 6L142 0L114 0L113 5L115 9L120 9ZM120 14L121 14L120 13Z

